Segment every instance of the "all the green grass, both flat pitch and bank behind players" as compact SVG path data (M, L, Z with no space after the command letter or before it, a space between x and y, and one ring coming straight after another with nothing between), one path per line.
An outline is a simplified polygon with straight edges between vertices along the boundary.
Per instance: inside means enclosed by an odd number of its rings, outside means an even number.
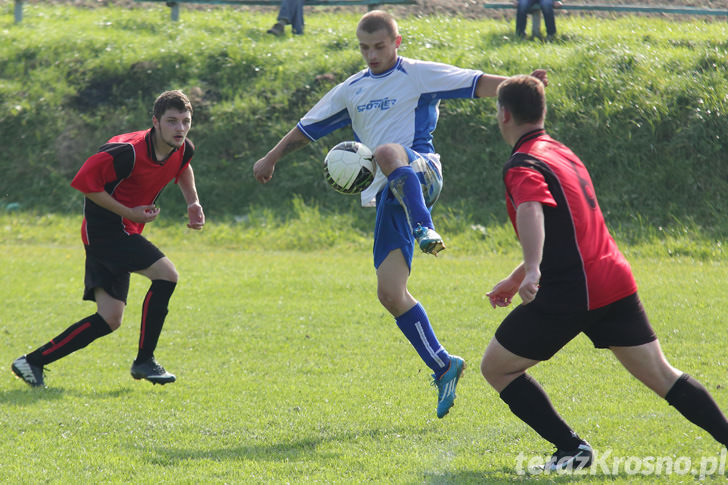
M583 337L532 374L605 460L585 476L519 473L553 450L478 370L507 314L485 292L519 259L492 100L444 103L438 146L453 156L434 217L448 250L418 254L411 280L470 366L438 420L428 369L376 300L373 214L347 213L355 201L324 190L317 163L331 143L299 152L266 189L250 176L328 89L319 74L362 67L358 14L307 14L299 39L266 35L267 12L188 9L176 24L161 5L140 15L36 3L13 25L11 5L0 0L0 207L75 214L80 163L146 126L149 93L182 87L197 96L194 164L212 217L189 233L167 212L181 199L165 195L145 232L181 274L157 351L177 383L129 376L148 287L134 277L122 328L52 364L48 389L34 390L12 360L94 311L80 298L80 220L0 210L0 483L684 483L701 471L725 482L724 448ZM728 409L726 24L575 16L540 44L513 42L512 22L406 19L402 54L549 69L553 134L601 184L668 358Z

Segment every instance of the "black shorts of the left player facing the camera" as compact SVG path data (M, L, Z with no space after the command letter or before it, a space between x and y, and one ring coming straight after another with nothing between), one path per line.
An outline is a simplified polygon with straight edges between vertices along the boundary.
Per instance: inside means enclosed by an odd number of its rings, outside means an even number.
M90 301L96 301L94 290L103 288L113 298L126 303L131 273L148 268L164 257L164 253L141 234L94 243L85 249L83 299Z

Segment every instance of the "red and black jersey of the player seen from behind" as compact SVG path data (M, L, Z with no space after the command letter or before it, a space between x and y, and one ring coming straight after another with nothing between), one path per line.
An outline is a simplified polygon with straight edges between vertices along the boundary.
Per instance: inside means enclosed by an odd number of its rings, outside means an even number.
M637 291L629 263L604 222L589 172L568 147L543 130L527 133L513 148L503 179L514 227L519 204L543 206L540 305L554 311L593 310Z

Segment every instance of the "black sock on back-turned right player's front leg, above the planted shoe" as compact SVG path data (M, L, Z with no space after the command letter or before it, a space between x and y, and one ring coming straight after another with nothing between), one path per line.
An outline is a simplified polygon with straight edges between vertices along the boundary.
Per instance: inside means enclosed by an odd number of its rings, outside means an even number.
M514 379L500 393L513 414L560 450L573 450L583 442L556 412L543 388L528 374Z

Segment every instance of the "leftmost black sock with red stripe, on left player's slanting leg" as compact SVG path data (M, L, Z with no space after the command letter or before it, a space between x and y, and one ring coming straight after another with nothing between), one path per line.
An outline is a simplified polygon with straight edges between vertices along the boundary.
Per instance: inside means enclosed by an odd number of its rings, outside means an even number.
M26 358L32 365L47 365L110 333L111 328L106 321L101 315L94 313L74 323L56 338L28 354Z

